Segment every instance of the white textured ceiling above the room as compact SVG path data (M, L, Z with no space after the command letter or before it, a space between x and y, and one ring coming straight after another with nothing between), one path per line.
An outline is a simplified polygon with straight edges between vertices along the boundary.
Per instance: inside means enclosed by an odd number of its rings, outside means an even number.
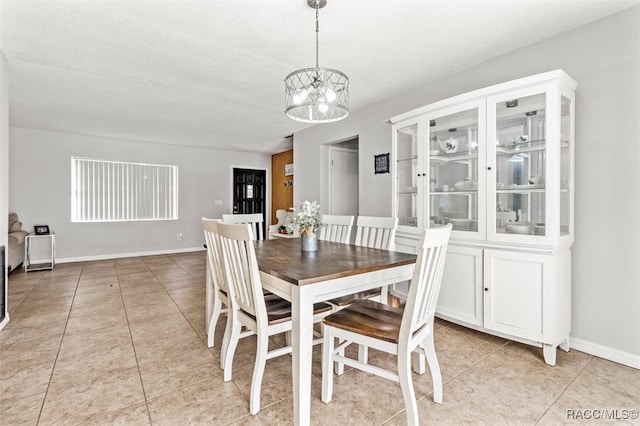
M353 111L635 4L329 0L320 65L349 76ZM12 126L269 153L308 126L283 112L284 77L315 63L306 0L1 7Z

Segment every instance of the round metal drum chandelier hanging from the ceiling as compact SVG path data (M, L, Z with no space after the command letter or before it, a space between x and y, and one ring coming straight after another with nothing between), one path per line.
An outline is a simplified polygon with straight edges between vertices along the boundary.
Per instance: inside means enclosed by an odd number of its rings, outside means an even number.
M284 112L296 121L330 123L349 115L349 77L318 65L318 16L327 0L307 0L307 5L316 10L316 66L296 70L284 79Z

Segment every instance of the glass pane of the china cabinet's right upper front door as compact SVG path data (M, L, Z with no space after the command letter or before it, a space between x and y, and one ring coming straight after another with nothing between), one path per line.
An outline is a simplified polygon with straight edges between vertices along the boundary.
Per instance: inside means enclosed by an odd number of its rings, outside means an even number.
M495 108L495 231L546 235L546 94L514 97ZM489 183L491 184L491 183Z

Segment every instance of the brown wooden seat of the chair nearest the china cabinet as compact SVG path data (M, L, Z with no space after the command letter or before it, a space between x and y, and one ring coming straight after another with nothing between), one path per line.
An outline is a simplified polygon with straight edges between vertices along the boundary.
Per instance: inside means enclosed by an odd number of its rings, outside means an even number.
M360 299L325 317L322 322L331 327L398 343L403 312L393 306Z

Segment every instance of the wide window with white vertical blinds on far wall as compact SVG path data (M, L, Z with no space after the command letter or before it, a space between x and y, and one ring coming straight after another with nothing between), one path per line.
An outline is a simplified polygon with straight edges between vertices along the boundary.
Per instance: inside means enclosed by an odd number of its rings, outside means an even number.
M71 157L71 221L178 219L178 166Z

